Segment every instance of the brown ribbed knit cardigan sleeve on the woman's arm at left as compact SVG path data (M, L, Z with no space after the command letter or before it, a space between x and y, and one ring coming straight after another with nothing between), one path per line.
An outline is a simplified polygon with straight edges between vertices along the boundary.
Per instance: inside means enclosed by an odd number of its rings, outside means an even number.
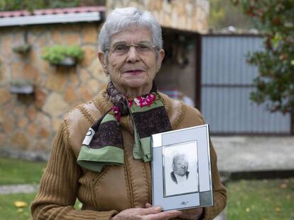
M97 212L73 207L82 170L76 163L69 143L66 122L63 120L40 181L39 192L31 204L33 219L111 219L117 214L115 210Z

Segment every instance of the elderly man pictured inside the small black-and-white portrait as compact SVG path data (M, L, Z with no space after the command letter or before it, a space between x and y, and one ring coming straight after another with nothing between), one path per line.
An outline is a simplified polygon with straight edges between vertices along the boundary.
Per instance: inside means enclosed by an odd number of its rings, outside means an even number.
M173 156L173 172L170 173L170 176L176 184L187 181L189 178L188 160L185 154L175 154Z

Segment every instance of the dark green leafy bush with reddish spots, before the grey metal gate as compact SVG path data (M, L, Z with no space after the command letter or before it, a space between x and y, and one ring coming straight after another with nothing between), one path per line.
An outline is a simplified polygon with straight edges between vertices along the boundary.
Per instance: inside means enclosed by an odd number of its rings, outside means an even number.
M294 109L294 1L232 0L254 18L264 36L265 50L249 54L258 66L251 100L267 103L272 112Z

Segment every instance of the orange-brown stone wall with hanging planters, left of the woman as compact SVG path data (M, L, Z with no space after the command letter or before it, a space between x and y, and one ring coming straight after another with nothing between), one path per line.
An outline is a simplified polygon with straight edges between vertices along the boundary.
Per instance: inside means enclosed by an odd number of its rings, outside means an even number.
M50 151L62 115L91 100L107 84L97 59L99 23L0 28L0 149ZM11 49L27 33L26 55ZM50 66L45 47L80 45L85 57L75 67ZM32 95L10 93L11 79L31 79Z

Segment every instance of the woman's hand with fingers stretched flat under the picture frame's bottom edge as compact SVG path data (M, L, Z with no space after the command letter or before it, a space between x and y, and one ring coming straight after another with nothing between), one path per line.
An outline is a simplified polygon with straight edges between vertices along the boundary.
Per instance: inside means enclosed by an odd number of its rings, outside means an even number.
M151 204L146 204L146 208L133 208L126 209L116 214L111 220L123 220L123 219L146 219L146 220L168 220L180 216L180 211L168 211L161 212L161 207L152 207Z

